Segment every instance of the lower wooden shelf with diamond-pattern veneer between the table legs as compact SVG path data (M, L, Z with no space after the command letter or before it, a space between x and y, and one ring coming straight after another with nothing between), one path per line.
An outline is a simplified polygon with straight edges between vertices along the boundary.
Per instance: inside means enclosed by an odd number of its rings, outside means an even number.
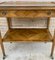
M13 41L52 41L47 29L10 29L3 38L4 42Z

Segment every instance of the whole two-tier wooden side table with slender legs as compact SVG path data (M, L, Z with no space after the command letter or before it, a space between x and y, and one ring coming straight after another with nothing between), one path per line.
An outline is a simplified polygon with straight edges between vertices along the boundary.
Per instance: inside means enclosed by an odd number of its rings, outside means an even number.
M6 17L8 21L8 31L5 36L1 38L0 43L3 52L3 59L5 58L5 51L3 42L52 42L51 58L53 58L53 51L55 46L55 33L52 37L49 31L50 17L55 17L55 3L54 2L2 2L0 3L0 17ZM13 29L11 28L11 18L43 18L47 17L47 28L43 29Z

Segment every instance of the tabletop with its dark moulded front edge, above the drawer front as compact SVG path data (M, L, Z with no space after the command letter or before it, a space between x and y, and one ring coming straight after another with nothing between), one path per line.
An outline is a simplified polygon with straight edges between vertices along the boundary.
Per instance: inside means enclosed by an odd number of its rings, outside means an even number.
M18 7L18 8L17 8ZM5 9L4 9L5 8ZM9 8L9 9L8 9ZM26 2L26 1L16 1L16 2L2 2L0 3L0 10L16 10L16 9L26 9L26 10L39 10L39 9L55 9L55 2Z

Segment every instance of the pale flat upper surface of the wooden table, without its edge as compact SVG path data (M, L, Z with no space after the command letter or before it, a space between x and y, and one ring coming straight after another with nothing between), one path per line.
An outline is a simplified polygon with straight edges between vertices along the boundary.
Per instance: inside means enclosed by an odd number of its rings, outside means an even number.
M9 1L9 2L0 2L0 7L1 6L55 6L55 2Z

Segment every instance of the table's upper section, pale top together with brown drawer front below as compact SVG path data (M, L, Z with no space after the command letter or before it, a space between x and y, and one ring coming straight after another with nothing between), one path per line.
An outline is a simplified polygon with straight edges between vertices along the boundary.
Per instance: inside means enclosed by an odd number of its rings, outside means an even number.
M0 3L0 16L18 18L55 17L55 3L3 2Z

